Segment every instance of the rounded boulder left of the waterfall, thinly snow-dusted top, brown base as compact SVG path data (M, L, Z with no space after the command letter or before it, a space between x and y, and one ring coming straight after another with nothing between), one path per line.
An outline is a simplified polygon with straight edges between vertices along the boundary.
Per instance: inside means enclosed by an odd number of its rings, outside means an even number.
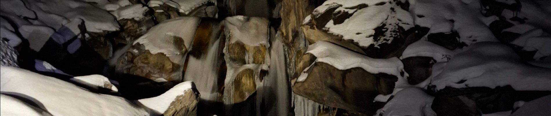
M181 17L154 26L118 59L117 73L181 82L198 23L199 18ZM188 29L180 30L180 27Z

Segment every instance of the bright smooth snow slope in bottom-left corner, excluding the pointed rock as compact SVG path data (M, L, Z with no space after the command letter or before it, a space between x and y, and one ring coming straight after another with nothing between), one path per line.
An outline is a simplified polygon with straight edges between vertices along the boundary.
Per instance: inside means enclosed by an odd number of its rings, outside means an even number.
M28 70L1 67L0 75L2 93L14 93L41 103L52 115L149 115L147 109L136 107L122 97L89 92Z

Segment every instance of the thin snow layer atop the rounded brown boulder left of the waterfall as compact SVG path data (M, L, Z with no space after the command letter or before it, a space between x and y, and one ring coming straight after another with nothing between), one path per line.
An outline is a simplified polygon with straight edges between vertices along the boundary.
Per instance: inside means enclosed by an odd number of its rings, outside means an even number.
M178 63L182 57L176 56L181 55L183 49L177 49L174 46L172 36L181 37L183 45L185 45L186 49L190 49L199 20L200 19L196 17L182 16L163 21L153 26L147 34L139 37L134 41L133 45L139 43L145 46L145 49L149 50L152 54L163 53L168 56L172 62Z

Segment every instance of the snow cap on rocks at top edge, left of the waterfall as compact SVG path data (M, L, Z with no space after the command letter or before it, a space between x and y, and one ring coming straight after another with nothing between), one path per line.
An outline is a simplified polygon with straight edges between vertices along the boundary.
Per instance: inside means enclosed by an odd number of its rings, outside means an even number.
M149 7L158 7L162 4L168 4L171 7L177 8L180 13L190 14L197 7L212 2L216 5L215 0L152 0L147 4Z

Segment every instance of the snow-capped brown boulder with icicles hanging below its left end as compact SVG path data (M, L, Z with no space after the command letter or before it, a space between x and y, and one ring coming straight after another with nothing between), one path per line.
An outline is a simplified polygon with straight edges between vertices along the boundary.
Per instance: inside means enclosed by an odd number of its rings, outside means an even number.
M373 101L386 102L384 98L376 97L390 96L395 89L407 84L398 58L369 58L330 42L319 41L310 45L297 62L291 80L293 93L325 106L352 112L375 114L382 106ZM295 112L317 113L308 109L295 108Z

